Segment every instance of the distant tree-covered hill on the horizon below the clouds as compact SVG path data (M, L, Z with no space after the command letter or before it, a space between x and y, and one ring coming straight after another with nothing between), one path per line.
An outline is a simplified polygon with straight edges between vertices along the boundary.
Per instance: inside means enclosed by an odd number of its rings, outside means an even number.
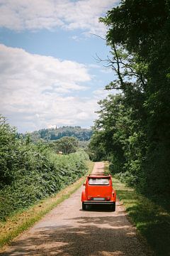
M91 139L92 130L84 129L79 126L71 127L59 127L51 129L40 129L39 131L30 132L30 138L33 142L37 142L42 139L45 142L61 139L62 137L76 137L80 141L88 141Z

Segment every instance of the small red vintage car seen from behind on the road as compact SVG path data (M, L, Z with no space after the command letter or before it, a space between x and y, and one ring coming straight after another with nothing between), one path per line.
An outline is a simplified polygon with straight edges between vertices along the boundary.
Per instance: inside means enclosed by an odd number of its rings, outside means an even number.
M85 190L81 193L82 209L87 205L110 205L115 211L116 193L112 187L111 175L88 175Z

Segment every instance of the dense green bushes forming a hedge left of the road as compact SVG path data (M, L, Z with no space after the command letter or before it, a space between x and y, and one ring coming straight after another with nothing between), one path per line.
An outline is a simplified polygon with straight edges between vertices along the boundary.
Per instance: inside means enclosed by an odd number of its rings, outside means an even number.
M86 173L88 155L57 155L42 142L20 137L0 117L0 220L60 191Z

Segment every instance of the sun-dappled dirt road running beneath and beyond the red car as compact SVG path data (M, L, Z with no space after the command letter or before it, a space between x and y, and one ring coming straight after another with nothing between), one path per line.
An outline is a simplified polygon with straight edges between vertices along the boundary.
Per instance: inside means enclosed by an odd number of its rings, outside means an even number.
M96 163L94 172L102 171L103 163ZM149 255L120 203L115 212L106 206L81 210L82 189L20 235L2 255Z

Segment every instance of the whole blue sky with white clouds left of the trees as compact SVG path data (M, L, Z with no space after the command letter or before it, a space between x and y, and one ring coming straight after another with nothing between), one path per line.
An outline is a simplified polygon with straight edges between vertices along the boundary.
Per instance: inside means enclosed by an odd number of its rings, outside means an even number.
M0 0L0 113L18 132L94 124L97 102L114 80L113 70L96 60L110 51L98 18L116 5Z

